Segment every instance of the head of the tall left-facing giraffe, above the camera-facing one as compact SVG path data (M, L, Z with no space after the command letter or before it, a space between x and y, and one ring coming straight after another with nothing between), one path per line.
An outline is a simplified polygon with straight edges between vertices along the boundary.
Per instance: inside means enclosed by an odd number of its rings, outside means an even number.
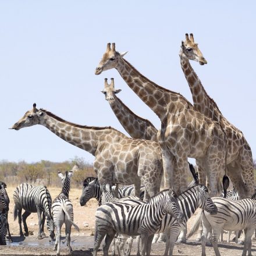
M99 65L96 67L95 74L101 74L102 71L115 68L116 66L118 66L119 59L126 54L127 52L119 54L119 52L116 51L115 42L112 43L112 48L111 43L109 42L106 45L105 54L102 56Z

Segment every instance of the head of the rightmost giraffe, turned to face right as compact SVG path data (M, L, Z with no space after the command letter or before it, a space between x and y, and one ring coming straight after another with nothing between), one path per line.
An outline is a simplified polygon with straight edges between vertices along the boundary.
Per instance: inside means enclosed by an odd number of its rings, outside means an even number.
M186 34L186 40L182 41L182 52L183 54L192 61L199 62L200 65L207 64L206 59L202 55L202 52L198 48L198 44L195 44L194 42L194 36L193 34Z

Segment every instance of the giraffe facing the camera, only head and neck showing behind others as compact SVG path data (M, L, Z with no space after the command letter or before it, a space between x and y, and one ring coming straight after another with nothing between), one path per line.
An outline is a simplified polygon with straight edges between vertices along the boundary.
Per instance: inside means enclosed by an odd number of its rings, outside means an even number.
M105 78L104 89L101 90L105 94L106 101L112 108L119 122L125 128L131 138L144 138L145 140L157 140L157 128L147 119L141 118L133 113L116 94L120 93L121 89L115 89L114 79L108 84L108 79Z

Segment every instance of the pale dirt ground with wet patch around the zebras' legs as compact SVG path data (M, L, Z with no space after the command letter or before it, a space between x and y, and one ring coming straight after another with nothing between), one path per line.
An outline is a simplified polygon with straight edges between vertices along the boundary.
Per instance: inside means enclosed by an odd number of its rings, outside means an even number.
M38 219L37 214L31 214L27 218L27 225L31 235L26 237L23 241L19 237L19 224L17 221L13 221L13 198L12 194L15 187L8 187L8 195L10 197L10 211L9 211L9 225L10 232L13 236L13 243L9 243L7 246L0 247L0 256L2 255L56 255L53 250L54 243L49 243L49 238L38 240ZM55 198L59 194L59 188L49 188L52 198ZM92 255L93 251L93 239L94 239L94 223L95 223L95 210L97 209L97 201L90 200L86 207L81 207L79 204L79 198L81 195L80 189L70 190L70 200L73 202L74 207L74 222L79 226L80 233L76 232L72 228L71 234L71 246L73 249L73 255ZM193 226L195 215L191 217L188 222L188 229ZM48 232L45 232L48 236ZM65 231L62 229L62 245L61 255L67 255L67 247L65 244ZM224 239L226 240L227 234ZM192 237L194 239L194 237ZM232 243L219 243L219 250L223 256L237 256L242 254L243 246ZM164 243L152 244L151 255L163 255L165 251ZM253 241L252 247L253 255L256 255L256 242ZM136 243L133 243L132 255L136 255ZM98 255L102 255L102 250L98 252ZM111 253L109 253L111 254ZM187 241L187 244L176 244L173 255L201 255L201 243L195 242L194 240ZM207 247L207 255L215 255L212 247Z

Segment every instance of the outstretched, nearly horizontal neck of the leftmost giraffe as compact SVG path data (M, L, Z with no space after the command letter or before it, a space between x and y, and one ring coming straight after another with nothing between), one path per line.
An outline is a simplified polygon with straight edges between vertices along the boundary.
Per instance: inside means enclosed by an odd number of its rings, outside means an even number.
M99 136L106 129L76 125L66 122L51 112L45 111L44 113L45 116L40 119L40 125L47 127L56 136L62 138L62 140L95 155L99 143Z

